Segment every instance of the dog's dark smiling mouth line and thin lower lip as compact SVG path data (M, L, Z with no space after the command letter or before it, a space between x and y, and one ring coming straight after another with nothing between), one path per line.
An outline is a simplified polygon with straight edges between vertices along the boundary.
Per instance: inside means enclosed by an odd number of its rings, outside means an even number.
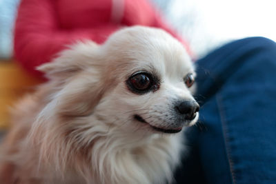
M198 115L197 115L198 116ZM155 125L150 125L150 123L148 123L145 119L143 119L141 116L139 116L138 114L135 114L135 116L134 116L134 119L136 120L136 121L139 121L140 123L146 123L146 124L148 124L149 125L149 127L152 129L152 130L154 130L154 131L156 131L156 132L161 132L161 133L166 133L166 134L176 134L176 133L178 133L178 132L181 132L181 130L182 130L182 128L184 127L184 126L187 126L187 127L189 127L189 126L192 126L192 125L194 125L196 122L197 122L197 119L198 119L198 117L195 117L195 119L193 119L193 121L189 121L189 122L187 122L187 123L183 123L183 124L181 124L179 127L173 127L173 128L170 128L170 127L157 127L157 126L155 126Z

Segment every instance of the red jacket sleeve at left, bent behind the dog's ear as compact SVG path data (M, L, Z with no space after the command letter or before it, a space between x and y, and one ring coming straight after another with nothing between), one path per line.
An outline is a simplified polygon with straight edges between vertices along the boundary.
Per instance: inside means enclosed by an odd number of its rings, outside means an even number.
M106 40L119 25L83 30L61 30L52 0L23 0L19 6L14 28L14 57L23 68L41 76L35 70L49 62L55 54L76 40L92 39L98 43Z

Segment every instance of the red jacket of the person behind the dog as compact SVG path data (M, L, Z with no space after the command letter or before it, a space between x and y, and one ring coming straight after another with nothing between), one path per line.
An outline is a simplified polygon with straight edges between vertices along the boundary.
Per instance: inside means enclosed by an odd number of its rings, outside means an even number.
M66 45L79 39L103 43L112 32L130 25L163 28L182 41L146 0L22 0L14 55L24 68L41 76L35 67Z

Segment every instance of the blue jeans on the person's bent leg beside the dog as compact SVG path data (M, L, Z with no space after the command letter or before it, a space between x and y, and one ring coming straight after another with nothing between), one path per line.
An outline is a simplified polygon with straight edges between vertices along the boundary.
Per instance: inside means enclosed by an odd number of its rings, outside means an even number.
M176 183L276 183L276 43L253 37L197 61L199 124Z

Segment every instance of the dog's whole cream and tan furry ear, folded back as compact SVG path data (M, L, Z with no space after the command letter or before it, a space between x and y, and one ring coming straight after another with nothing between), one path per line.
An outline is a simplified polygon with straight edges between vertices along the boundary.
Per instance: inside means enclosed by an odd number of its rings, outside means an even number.
M72 45L61 52L52 63L38 69L52 79L58 90L52 109L64 116L83 116L98 103L106 90L103 60L99 56L99 45L92 41Z

